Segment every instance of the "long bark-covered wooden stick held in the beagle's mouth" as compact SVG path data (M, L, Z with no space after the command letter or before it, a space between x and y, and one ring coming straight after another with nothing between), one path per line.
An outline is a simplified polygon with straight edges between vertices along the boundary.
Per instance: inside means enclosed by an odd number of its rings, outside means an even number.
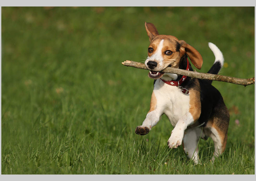
M145 64L135 62L135 61L126 60L125 62L122 62L122 64L125 66L128 66L128 67L135 67L135 68L148 70L147 67L145 66ZM224 76L224 75L187 71L187 70L182 70L182 69L172 68L172 67L167 67L167 68L163 69L161 72L186 75L191 78L229 82L229 83L239 84L239 85L243 85L243 86L248 86L248 85L255 83L254 77L250 78L250 79L240 79L240 78L228 77L228 76Z

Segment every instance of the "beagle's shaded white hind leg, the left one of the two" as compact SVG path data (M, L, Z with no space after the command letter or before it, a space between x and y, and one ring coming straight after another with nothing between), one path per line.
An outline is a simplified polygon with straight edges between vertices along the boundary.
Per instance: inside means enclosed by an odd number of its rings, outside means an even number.
M189 159L193 159L195 164L199 163L198 141L200 137L205 137L202 128L188 129L185 131L182 141L184 152Z

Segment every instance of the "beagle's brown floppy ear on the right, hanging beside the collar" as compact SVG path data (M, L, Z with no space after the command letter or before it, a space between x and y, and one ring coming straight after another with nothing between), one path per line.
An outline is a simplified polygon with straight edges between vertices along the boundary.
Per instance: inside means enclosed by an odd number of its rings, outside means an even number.
M191 60L192 64L198 68L201 69L203 64L203 58L200 55L200 53L191 45L187 44L185 41L180 41L181 46L185 49L185 52L187 53L187 56ZM183 49L183 50L184 50Z

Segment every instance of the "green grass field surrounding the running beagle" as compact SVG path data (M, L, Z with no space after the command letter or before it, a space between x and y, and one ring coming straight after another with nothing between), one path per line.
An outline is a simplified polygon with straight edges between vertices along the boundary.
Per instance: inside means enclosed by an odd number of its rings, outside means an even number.
M167 147L165 115L135 134L149 110L153 79L121 62L145 61L144 22L195 47L207 72L208 42L223 52L220 74L255 73L254 7L2 7L2 174L255 174L255 93L212 84L230 112L227 147L212 164L213 142L199 142L201 164ZM194 68L195 69L195 68Z

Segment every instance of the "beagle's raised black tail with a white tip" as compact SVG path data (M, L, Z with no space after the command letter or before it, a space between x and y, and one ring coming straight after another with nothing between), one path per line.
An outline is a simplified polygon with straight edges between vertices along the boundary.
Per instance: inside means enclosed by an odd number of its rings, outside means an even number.
M218 74L221 67L224 64L224 57L222 55L222 52L220 49L214 45L213 43L208 43L209 47L211 48L214 56L215 56L215 61L210 70L207 72L209 74ZM207 80L210 84L212 83L212 80Z

